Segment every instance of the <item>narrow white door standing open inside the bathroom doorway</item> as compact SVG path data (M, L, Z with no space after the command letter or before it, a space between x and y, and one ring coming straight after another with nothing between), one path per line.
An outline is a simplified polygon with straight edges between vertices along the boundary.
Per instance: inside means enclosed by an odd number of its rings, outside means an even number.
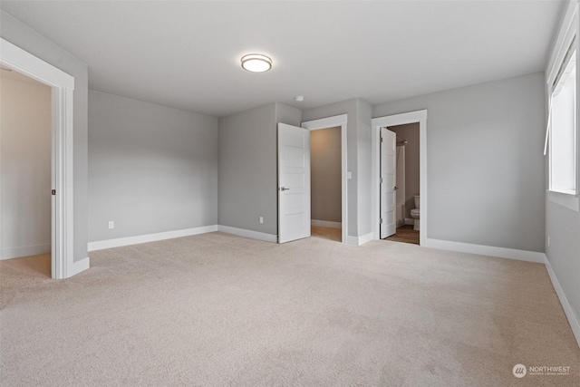
M397 136L381 128L381 238L396 232L396 156Z

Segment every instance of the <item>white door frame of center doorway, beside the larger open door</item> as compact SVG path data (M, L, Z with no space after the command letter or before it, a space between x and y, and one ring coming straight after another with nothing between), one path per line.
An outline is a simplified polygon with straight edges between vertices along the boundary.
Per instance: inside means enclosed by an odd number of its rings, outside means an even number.
M304 121L302 127L309 131L317 131L319 129L341 127L341 187L342 187L342 242L347 243L348 239L348 197L347 193L347 163L346 163L346 127L348 123L348 114L341 114L333 117L326 117L319 120Z

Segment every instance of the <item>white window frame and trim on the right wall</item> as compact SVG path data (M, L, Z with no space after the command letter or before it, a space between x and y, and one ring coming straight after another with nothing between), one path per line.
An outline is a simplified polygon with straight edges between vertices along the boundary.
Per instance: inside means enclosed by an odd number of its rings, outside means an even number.
M557 203L561 206L565 206L566 208L573 209L578 211L579 206L579 192L578 186L580 185L580 165L578 160L578 151L580 150L580 135L578 133L578 118L579 118L579 109L578 109L578 102L580 99L578 98L578 92L580 91L579 88L579 80L580 80L580 60L578 60L578 55L580 54L580 50L578 49L578 42L580 41L580 36L578 36L578 0L573 0L569 3L568 8L566 9L564 21L560 26L560 30L557 36L556 44L554 46L554 51L550 56L550 61L548 62L546 68L546 96L548 101L548 106L551 106L551 99L552 99L552 86L556 81L556 76L558 71L560 70L561 64L565 60L565 54L568 52L570 45L574 41L575 37L575 50L576 50L576 127L575 127L575 139L576 139L576 152L575 152L575 189L573 192L558 192L556 190L551 189L551 152L548 153L548 189L547 189L547 198L548 200ZM549 125L549 115L548 115L548 125ZM547 138L548 132L546 132L546 141L549 140ZM547 142L546 142L547 144Z

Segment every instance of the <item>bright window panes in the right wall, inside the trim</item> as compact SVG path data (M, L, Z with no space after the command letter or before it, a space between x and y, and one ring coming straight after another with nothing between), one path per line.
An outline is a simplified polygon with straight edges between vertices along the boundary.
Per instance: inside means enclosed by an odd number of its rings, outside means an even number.
M570 45L552 85L550 190L576 194L576 50Z

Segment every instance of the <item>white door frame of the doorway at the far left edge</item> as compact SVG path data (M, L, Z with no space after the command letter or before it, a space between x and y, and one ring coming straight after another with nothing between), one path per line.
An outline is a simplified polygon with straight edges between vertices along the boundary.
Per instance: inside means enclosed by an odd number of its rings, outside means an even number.
M74 77L0 38L0 63L52 88L52 263L54 279L86 267L73 260L73 90ZM46 193L47 195L50 192Z

